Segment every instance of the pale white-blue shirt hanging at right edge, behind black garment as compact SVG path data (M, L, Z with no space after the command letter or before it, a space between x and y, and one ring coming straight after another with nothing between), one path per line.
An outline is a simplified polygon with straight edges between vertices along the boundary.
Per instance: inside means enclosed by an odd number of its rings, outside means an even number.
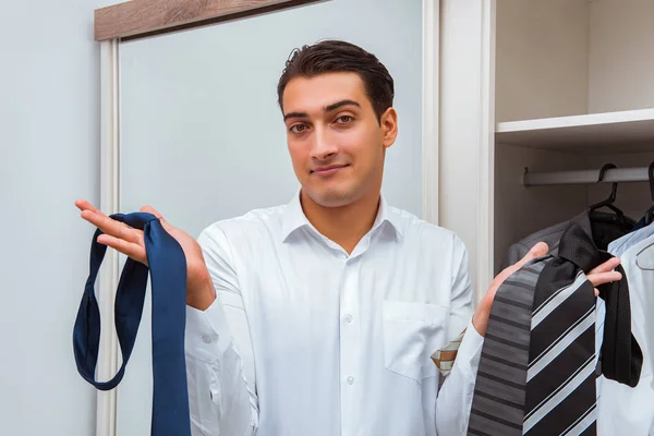
M635 388L597 378L597 435L654 435L654 226L611 242L608 251L620 257L629 282L631 331L643 352L643 365ZM606 306L597 300L598 350Z

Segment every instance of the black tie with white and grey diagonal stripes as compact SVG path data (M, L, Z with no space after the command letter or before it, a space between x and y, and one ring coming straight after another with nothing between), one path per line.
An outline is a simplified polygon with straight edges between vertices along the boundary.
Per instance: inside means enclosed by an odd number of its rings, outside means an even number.
M525 435L596 434L593 284L574 264L567 264L571 263L555 258L543 269L536 284L526 373ZM572 284L561 269L577 274ZM557 278L564 282L557 283Z

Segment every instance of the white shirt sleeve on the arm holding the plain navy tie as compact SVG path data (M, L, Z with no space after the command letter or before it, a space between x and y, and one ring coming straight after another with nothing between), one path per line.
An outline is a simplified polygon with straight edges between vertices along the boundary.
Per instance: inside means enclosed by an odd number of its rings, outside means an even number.
M186 306L186 377L194 436L253 435L258 426L250 328L222 230L205 229L198 243L216 289L205 311Z

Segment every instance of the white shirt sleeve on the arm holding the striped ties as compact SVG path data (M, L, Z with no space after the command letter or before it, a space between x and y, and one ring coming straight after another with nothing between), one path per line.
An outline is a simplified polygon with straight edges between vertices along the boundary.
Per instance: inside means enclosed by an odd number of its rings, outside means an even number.
M469 276L468 252L458 239L453 249L453 274L448 331L465 335L457 352L453 366L445 378L436 400L436 431L438 435L464 435L468 431L470 409L476 372L484 338L472 325L473 292Z

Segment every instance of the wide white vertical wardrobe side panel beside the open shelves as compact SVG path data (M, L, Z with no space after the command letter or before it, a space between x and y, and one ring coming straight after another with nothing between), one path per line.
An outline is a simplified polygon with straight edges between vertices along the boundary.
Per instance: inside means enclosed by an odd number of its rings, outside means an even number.
M440 0L439 225L470 255L475 301L494 277L495 0Z

